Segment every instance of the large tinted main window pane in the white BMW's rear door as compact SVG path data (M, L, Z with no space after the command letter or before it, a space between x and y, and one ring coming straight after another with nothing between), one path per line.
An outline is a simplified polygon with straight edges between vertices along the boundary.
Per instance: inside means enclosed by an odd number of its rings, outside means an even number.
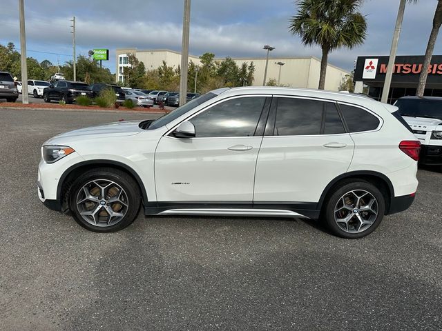
M320 134L323 102L295 98L278 98L275 136Z

